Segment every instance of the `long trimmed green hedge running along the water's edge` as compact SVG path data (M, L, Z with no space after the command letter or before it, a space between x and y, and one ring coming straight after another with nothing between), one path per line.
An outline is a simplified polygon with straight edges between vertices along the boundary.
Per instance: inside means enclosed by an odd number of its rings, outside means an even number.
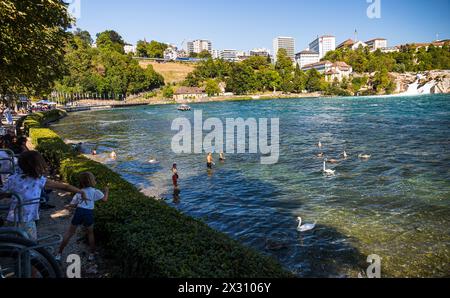
M57 164L60 164L65 181L78 185L79 174L90 171L97 177L98 188L110 187L110 201L99 204L95 211L96 234L121 265L117 276L293 277L270 257L241 245L164 202L146 197L108 167L64 148L62 140L51 130L33 128L30 137L45 156L55 159L53 162L62 158Z

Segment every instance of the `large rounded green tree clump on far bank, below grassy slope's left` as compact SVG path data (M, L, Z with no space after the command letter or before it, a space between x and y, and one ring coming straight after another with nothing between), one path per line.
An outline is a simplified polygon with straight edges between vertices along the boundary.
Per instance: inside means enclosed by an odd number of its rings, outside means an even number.
M65 64L68 73L56 83L60 93L95 93L108 98L120 98L164 85L163 77L151 65L143 69L131 56L119 51L119 35L105 31L100 34L102 46L93 48L87 34L75 34L67 45ZM109 37L116 41L109 40Z

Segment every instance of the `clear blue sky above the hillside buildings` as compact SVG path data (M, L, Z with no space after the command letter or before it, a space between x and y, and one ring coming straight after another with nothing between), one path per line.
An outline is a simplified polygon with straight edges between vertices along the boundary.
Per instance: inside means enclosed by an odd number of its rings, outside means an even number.
M181 45L210 39L215 49L272 48L276 36L292 36L302 50L317 35L337 43L352 38L388 39L389 45L450 38L450 0L381 1L381 18L369 19L368 0L79 0L77 26L92 35L118 31L139 39Z

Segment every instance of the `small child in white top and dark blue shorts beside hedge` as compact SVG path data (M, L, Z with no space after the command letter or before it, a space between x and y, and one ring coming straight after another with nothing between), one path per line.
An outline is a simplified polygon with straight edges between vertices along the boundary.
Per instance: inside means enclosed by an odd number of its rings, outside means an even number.
M72 225L64 236L64 240L59 248L59 253L56 256L56 260L61 260L61 255L64 248L69 244L70 239L75 235L79 226L83 225L87 228L90 255L89 261L94 261L95 259L95 238L94 238L94 207L97 201L108 201L109 189L105 189L103 194L100 190L95 189L96 185L95 177L92 173L82 173L80 175L80 186L86 193L86 199L84 200L81 196L76 195L70 205L76 207L75 215L72 219Z

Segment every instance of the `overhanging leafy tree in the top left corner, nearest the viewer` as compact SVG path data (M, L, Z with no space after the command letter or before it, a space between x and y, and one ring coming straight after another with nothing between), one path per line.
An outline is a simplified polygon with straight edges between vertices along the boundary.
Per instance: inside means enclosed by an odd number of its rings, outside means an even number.
M0 97L48 93L65 72L67 4L57 0L0 1Z

